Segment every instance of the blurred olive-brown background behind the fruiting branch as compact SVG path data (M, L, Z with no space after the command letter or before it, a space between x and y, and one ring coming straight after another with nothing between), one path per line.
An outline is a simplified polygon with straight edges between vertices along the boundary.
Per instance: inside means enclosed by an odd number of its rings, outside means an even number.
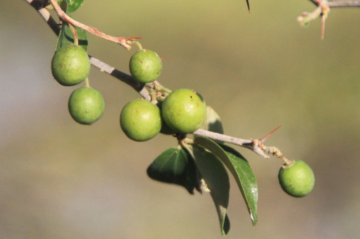
M230 177L227 238L358 238L360 233L360 9L332 9L296 21L307 0L87 0L72 14L113 36L140 36L163 60L159 82L191 88L222 118L225 133L261 138L305 160L316 183L293 198L279 186L282 161L235 147L257 175L258 225ZM92 67L105 99L91 126L72 120L79 86L52 77L57 37L25 1L0 8L0 238L221 238L208 193L148 178L148 165L175 138L134 142L121 131L122 107L139 95ZM52 12L54 13L54 12ZM136 48L136 47L135 47ZM89 36L89 54L129 73L136 51Z

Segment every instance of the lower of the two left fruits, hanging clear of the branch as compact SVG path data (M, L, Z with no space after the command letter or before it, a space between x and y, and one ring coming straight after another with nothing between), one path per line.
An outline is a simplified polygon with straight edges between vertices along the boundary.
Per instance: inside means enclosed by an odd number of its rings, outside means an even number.
M104 113L105 102L100 92L91 87L74 90L68 102L71 117L83 125L91 125Z

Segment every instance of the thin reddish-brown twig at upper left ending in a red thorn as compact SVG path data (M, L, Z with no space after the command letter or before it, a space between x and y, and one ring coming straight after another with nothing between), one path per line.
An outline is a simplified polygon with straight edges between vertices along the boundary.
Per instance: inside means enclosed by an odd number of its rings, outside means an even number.
M25 0L28 1L28 0ZM129 44L126 43L127 40L130 39L136 39L136 38L141 38L141 37L113 37L110 35L107 35L105 33L103 33L102 31L100 31L99 29L96 29L94 27L89 27L85 24L82 24L74 19L72 19L71 17L69 17L66 13L64 13L64 11L60 8L59 4L57 3L56 0L49 0L51 5L53 5L54 10L56 11L56 13L58 14L59 18L65 20L67 23L73 25L74 27L80 27L81 29L84 29L87 32L90 32L98 37L102 37L104 39L107 39L109 41L112 42L116 42L120 45L122 45L123 47L125 47L126 49L130 49L131 46Z

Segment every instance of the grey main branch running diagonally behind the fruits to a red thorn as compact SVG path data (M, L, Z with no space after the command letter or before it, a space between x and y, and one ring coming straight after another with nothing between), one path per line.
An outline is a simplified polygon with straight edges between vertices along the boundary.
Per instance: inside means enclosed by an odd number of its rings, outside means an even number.
M51 17L49 11L46 10L45 8L39 7L38 4L34 4L35 2L40 1L40 0L25 0L25 1L27 3L29 3L29 4L31 4L31 6L33 6L38 11L38 13L46 21L46 23L48 23L49 27L53 30L53 32L56 35L59 35L60 27L57 24L57 22ZM102 71L102 72L106 72L106 73L114 76L115 78L121 80L122 82L126 83L127 85L130 85L144 99L147 99L149 101L151 100L149 89L147 89L147 88L152 88L152 86L153 86L152 84L159 84L157 81L155 81L154 83L141 84L138 81L136 81L134 78L132 78L131 75L126 74L126 73L124 73L124 72L122 72L120 70L117 70L114 67L106 64L105 62L102 62L99 59L96 59L95 57L92 57L92 56L89 55L89 58L90 58L91 65L99 68L100 71ZM275 130L271 131L268 135L266 135L262 139L258 139L258 140L239 139L239 138L236 138L236 137L231 137L231 136L228 136L228 135L222 135L220 133L215 133L215 132L211 132L211 131L207 131L207 130L201 130L201 129L195 131L193 134L194 135L199 135L199 136L209 137L211 139L220 140L220 141L223 141L223 142L228 142L228 143L239 145L239 146L242 146L242 147L246 147L246 148L254 151L255 153L257 153L258 155L263 156L264 158L269 158L269 156L267 156L265 154L265 153L267 153L267 154L270 154L270 155L277 156L278 158L282 158L285 161L286 158L282 155L282 153L280 152L279 149L277 149L276 147L267 147L267 146L265 146L263 144L263 142L272 133L274 133L279 127L277 127ZM286 163L286 161L285 161L285 163Z

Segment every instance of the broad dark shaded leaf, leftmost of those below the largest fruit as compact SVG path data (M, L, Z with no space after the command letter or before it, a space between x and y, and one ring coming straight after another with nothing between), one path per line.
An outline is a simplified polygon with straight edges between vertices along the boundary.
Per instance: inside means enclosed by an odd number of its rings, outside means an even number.
M172 147L160 154L147 169L150 178L166 183L184 186L194 194L197 180L192 158L178 147Z

